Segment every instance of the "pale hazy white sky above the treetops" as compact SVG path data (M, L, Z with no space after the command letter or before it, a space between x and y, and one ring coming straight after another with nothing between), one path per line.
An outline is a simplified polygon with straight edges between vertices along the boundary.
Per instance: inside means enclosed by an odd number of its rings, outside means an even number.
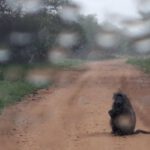
M84 14L96 14L99 21L107 14L118 14L124 17L137 18L136 0L74 0L78 2Z

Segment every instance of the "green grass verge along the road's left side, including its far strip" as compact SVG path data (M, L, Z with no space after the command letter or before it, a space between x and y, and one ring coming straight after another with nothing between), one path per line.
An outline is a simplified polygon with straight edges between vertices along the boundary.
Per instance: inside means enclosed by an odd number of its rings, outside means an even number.
M28 71L32 69L76 69L83 61L65 59L57 64L4 64L0 65L0 111L8 105L22 100L25 95L53 84L50 81L46 85L35 85L26 81ZM15 77L13 75L15 73Z

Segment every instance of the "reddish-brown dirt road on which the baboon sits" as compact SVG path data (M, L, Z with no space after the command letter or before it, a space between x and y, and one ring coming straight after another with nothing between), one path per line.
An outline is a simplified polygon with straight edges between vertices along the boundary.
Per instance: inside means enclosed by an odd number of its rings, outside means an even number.
M110 134L108 110L118 89L131 98L137 128L150 130L150 79L122 60L93 62L60 86L7 108L0 150L149 150L150 135Z

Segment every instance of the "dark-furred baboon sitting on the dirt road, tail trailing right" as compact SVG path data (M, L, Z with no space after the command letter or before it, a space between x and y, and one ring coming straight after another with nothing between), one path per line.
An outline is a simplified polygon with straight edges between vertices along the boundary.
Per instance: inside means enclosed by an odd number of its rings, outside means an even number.
M112 133L114 135L150 134L148 131L136 130L136 115L129 98L122 92L113 95L112 109L108 112L111 120Z

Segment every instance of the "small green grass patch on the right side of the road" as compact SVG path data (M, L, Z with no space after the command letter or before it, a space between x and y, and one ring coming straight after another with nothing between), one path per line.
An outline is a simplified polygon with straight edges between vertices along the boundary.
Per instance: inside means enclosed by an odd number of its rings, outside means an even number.
M146 73L150 73L150 58L145 59L129 59L128 63L137 66L138 68L142 69Z

